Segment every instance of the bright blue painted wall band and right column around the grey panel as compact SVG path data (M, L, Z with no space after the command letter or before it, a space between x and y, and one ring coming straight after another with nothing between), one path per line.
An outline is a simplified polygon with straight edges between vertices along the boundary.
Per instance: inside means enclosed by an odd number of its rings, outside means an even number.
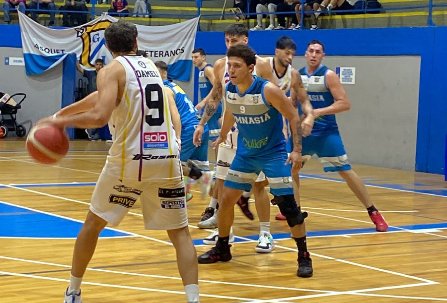
M7 27L6 27L7 26ZM304 54L312 39L326 45L327 56L421 56L416 171L444 174L447 134L447 27L332 29L318 31L250 32L250 46L260 55L271 55L275 41L291 36ZM269 43L266 43L268 41ZM196 45L207 54L224 54L221 32L198 32ZM0 47L21 47L18 26L0 25Z

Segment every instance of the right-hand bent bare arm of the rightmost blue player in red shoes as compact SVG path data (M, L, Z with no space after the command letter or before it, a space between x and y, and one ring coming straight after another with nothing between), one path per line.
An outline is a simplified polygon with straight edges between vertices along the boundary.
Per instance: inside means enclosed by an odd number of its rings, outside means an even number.
M351 109L351 102L349 101L348 95L341 85L337 74L332 70L326 73L326 85L334 97L334 103L328 107L316 109L314 111L315 118L323 115L338 114Z

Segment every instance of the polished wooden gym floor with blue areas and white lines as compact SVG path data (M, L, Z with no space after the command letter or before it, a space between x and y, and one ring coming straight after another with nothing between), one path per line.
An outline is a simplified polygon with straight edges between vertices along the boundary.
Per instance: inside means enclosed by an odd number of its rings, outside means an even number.
M108 143L72 141L55 166L30 160L20 139L0 140L0 302L61 303L74 239L88 210ZM316 161L301 171L312 278L296 276L296 246L284 221L269 254L254 247L259 224L238 209L233 259L199 264L202 303L412 303L447 301L447 188L443 176L355 165L389 232L377 233L337 174ZM198 189L193 184L194 189ZM209 199L188 202L198 253L210 230L196 224ZM254 203L250 204L255 212ZM237 207L236 207L237 208ZM82 285L84 303L184 303L175 252L165 232L146 231L137 203L106 229ZM254 241L252 239L255 239Z

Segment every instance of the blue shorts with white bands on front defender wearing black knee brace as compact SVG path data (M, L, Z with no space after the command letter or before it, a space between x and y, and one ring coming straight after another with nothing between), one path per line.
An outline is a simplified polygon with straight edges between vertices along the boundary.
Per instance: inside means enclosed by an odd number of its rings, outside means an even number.
M262 171L270 183L270 193L276 196L293 194L292 174L287 161L286 150L257 157L234 157L228 170L224 186L234 189L250 191L259 173Z

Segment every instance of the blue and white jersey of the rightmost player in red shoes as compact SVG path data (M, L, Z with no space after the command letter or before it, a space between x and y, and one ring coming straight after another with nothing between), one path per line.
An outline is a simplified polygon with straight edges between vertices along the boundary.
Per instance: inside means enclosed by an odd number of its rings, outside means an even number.
M326 73L328 71L329 68L324 65L321 65L311 75L307 73L307 67L303 67L299 70L302 82L309 95L310 103L314 109L328 107L334 103L334 97L326 86ZM302 114L300 107L299 114ZM338 125L337 121L335 121L335 115L318 117L313 124L310 135L317 136L328 133L338 133Z

